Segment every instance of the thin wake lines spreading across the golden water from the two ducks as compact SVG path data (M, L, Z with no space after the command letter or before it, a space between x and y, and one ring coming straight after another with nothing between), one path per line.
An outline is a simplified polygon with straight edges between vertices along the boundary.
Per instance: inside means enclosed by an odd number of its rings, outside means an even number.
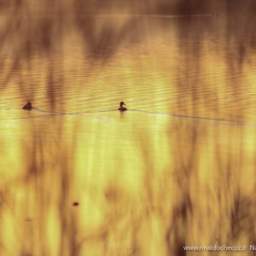
M16 109L16 108L15 108ZM44 118L44 117L55 117L55 116L65 116L65 115L84 115L85 117L96 118L96 119L104 119L104 117L97 117L86 115L87 113L109 113L109 112L119 112L119 109L108 109L108 110L94 110L94 111L84 111L84 112L53 112L48 111L40 108L32 108L38 112L42 113L49 113L49 114L41 114L37 116L30 116L30 117L20 117L20 118L12 118L12 119L0 119L0 120L15 120L15 119L36 119L36 118ZM215 121L215 122L225 122L232 125L251 125L256 126L256 123L247 123L242 122L240 120L232 120L232 119L218 119L218 118L210 118L210 117L201 117L201 116L194 116L194 115L187 115L187 114L179 114L179 113L165 113L165 112L155 112L155 111L148 111L142 109L128 109L127 112L138 112L138 113L149 113L154 115L162 115L162 116L169 116L175 117L179 119L199 119L199 120L208 120L208 121Z

